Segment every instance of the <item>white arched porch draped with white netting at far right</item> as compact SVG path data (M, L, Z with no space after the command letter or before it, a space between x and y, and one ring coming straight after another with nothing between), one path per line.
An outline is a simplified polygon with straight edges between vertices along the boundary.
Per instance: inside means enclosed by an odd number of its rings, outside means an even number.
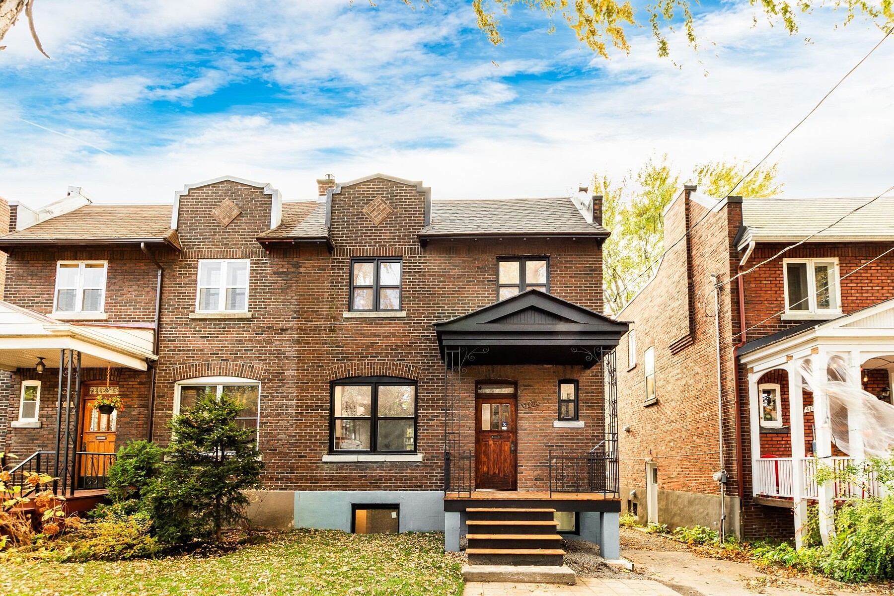
M882 489L873 477L865 485L844 478L844 470L859 466L865 446L877 437L862 410L831 412L822 387L825 382L846 383L855 393L862 390L878 399L873 407L894 408L894 300L754 340L739 356L747 367L755 502L792 508L800 547L807 503L813 500L819 504L821 531L828 536L834 532L836 500L863 499ZM805 378L815 381L806 383ZM831 468L833 479L818 483L818 466Z

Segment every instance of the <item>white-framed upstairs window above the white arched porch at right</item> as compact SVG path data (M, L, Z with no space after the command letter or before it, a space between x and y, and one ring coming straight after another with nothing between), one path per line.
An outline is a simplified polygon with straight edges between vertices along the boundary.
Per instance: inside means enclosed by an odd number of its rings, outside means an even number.
M788 313L841 312L838 259L784 259L782 263Z

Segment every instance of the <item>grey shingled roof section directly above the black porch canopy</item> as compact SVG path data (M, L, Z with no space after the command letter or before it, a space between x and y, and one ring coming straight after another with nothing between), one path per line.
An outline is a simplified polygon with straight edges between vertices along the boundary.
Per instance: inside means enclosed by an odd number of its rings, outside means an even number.
M609 231L587 222L570 197L440 200L419 238L498 234L608 238Z

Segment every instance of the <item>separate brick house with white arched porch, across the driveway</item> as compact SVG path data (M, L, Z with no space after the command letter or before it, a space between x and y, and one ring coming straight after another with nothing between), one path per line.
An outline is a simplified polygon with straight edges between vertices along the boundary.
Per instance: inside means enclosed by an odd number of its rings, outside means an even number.
M718 202L687 186L667 207L668 252L618 315L634 322L618 349L622 508L671 528L725 517L747 537L797 530L800 544L807 504L844 496L814 480L814 455L849 457L802 371L834 380L843 364L891 402L894 200L816 233L866 201Z

